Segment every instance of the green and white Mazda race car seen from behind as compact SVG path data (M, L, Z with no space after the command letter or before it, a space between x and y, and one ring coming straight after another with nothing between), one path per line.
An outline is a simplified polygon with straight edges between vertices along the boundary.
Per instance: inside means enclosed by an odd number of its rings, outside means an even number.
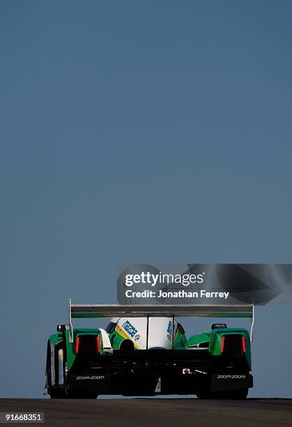
M109 317L106 329L72 327L72 318ZM100 394L246 398L253 387L249 331L212 324L187 338L178 317L250 317L253 306L78 305L47 341L51 398ZM252 335L252 329L251 329Z

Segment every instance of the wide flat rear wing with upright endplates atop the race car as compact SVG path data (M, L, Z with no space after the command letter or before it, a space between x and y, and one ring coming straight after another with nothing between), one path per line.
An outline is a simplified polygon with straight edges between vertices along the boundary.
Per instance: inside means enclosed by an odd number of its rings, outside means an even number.
M71 304L69 299L70 340L73 338L73 318L90 317L249 317L252 320L250 336L254 327L254 306L216 305L118 305L118 304Z

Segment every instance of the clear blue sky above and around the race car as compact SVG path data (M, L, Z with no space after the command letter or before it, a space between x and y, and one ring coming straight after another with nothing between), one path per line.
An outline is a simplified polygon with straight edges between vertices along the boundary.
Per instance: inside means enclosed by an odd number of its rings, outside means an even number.
M291 36L285 0L0 2L1 397L118 264L291 262ZM292 397L291 311L252 396Z

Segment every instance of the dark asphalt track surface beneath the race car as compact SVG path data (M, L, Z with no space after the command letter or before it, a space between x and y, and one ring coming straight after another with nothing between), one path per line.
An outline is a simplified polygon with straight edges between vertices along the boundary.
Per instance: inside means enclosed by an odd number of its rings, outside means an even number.
M0 399L0 412L44 412L46 427L292 426L289 399Z

